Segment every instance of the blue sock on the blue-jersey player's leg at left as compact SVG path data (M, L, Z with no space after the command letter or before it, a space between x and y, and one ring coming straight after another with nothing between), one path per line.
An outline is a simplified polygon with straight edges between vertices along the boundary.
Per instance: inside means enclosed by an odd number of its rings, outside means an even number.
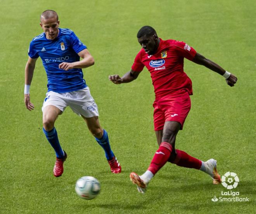
M45 136L48 142L50 143L52 148L54 148L57 158L64 157L64 151L62 150L61 145L59 143L59 139L58 139L58 135L55 127L50 131L46 131L43 128L43 133L45 133Z

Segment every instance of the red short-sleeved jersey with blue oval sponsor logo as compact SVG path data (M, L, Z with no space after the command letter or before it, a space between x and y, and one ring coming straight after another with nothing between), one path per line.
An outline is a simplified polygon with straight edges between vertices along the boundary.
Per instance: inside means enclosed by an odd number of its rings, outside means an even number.
M162 40L156 54L148 55L142 48L131 66L133 71L142 71L144 66L150 72L156 100L169 94L187 90L192 95L192 82L183 71L184 57L193 60L196 51L183 41Z

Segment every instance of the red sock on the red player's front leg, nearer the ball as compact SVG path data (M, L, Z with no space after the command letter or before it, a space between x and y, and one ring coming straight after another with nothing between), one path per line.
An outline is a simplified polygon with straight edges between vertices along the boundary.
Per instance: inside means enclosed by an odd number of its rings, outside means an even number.
M147 170L153 174L156 174L157 171L161 169L161 167L164 166L164 164L166 164L170 158L172 149L173 147L170 145L170 143L161 143Z

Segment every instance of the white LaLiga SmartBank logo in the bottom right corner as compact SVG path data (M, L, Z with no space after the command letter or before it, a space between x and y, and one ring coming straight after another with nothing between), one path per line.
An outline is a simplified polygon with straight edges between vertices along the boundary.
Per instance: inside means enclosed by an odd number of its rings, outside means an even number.
M232 189L235 189L239 183L239 178L236 173L233 172L227 172L221 177L221 184L225 188L227 188L227 192L221 191L221 196L216 197L214 195L211 200L213 202L247 202L250 198L248 197L239 197L240 192L231 191Z

